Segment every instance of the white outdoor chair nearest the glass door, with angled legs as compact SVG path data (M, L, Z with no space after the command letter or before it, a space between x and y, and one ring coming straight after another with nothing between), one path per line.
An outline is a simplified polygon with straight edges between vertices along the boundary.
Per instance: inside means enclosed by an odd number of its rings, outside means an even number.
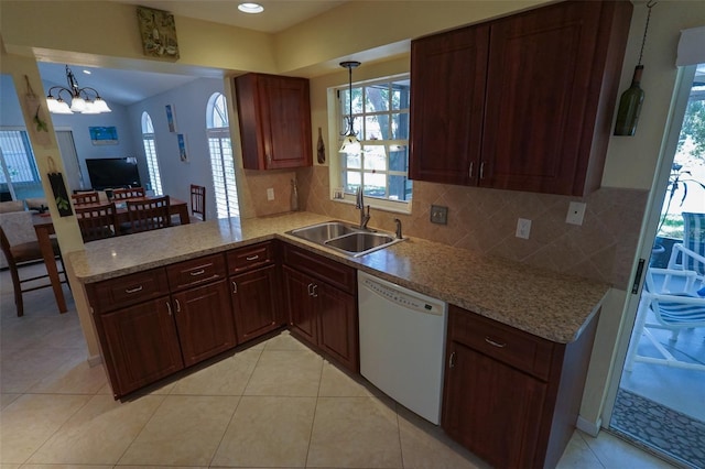
M651 329L671 331L669 342L675 346L679 334L683 329L705 327L705 296L703 295L705 295L705 285L702 276L696 272L649 268L625 370L631 371L633 362L641 361L705 371L705 364L679 360L651 332ZM650 321L651 315L653 315L653 321ZM638 353L642 336L655 348L660 357Z

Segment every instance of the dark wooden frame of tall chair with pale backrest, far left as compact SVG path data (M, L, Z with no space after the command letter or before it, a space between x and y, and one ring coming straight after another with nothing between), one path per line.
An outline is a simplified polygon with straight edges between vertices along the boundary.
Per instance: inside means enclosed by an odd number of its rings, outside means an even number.
M30 212L26 214L29 215L29 218L26 218L26 222L32 225L32 215ZM23 212L20 212L20 215L23 215ZM4 228L9 229L10 226L6 225ZM10 271L10 276L12 277L12 286L14 288L14 304L17 306L18 316L24 316L24 302L22 299L22 294L33 292L35 290L47 288L51 287L52 284L37 283L37 281L40 280L48 279L48 273L32 276L20 275L20 270L31 264L36 264L40 262L44 263L42 249L40 248L40 243L37 240L24 242L10 241L4 228L0 225L0 248L2 248L2 253L8 261L8 269ZM61 283L68 283L66 272L64 270L64 262L58 249L58 243L55 239L52 239L52 248L54 249L54 259L56 261L61 261L62 263L62 269L58 271L58 273L59 275L64 275L64 280L62 280ZM30 284L31 286L24 287L23 285L25 284Z

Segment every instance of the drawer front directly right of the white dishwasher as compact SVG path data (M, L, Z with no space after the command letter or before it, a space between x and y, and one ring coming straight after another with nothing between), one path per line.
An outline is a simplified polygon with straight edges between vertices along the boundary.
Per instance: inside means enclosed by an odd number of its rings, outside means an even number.
M454 305L449 305L449 339L547 381L553 342Z

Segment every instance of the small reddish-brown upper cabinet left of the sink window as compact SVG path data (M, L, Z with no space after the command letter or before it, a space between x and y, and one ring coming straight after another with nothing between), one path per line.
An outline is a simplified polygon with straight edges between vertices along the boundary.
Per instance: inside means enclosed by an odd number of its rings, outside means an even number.
M308 80L247 74L235 79L247 170L311 166Z

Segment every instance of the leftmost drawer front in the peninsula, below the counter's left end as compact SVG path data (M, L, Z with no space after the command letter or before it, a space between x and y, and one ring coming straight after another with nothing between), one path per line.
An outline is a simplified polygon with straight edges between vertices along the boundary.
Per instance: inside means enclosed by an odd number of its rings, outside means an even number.
M105 313L167 295L169 283L163 269L153 269L98 282L88 292L94 310Z

